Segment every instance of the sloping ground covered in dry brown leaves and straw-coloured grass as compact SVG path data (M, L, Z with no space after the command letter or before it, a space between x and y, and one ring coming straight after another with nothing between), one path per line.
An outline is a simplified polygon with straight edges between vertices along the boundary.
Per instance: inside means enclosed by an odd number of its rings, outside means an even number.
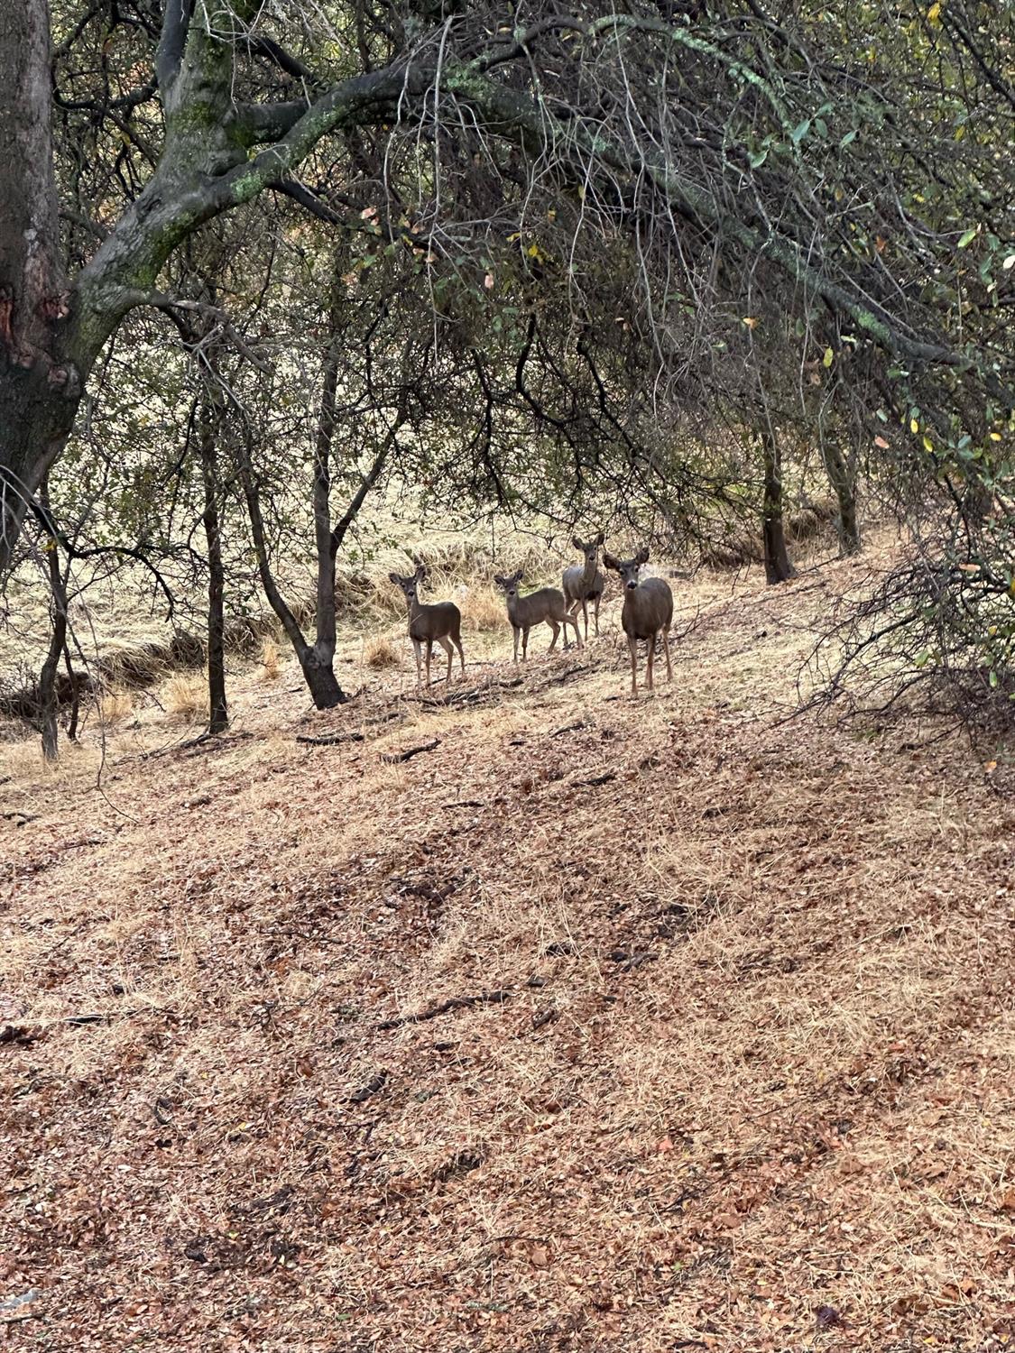
M1015 813L786 720L861 567L674 583L636 702L614 602L0 748L0 1346L1014 1346Z

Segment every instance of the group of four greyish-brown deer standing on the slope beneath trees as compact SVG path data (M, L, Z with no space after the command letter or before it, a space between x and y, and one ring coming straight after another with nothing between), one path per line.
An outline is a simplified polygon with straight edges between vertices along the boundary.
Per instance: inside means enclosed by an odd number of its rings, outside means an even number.
M518 662L518 636L521 636L521 656L528 658L529 630L533 625L547 624L554 632L549 641L549 652L556 647L558 636L563 626L564 645L567 644L567 626L574 629L575 644L582 647L582 637L578 633L578 612L581 609L585 620L585 637L589 639L589 603L593 607L595 635L600 633L600 602L606 589L606 575L600 568L600 547L604 544L604 534L600 532L593 540L583 541L577 536L572 544L583 556L582 564L564 570L563 591L559 587L540 587L539 591L522 597L520 587L522 570L518 568L508 578L499 574L494 582L508 599L508 618L514 630L514 660ZM637 641L644 639L648 643L648 667L646 685L652 689L652 658L655 653L655 640L663 636L663 652L666 653L666 675L673 681L670 666L670 625L673 622L673 593L669 583L662 578L646 578L639 582L641 564L648 563L648 549L641 548L633 559L617 559L608 551L602 553L602 563L620 574L624 587L624 609L620 624L628 636L628 649L631 652L631 693L637 694ZM430 656L433 645L440 644L448 655L447 681L451 681L451 664L455 648L459 651L461 674L466 672L466 655L461 651L461 612L451 601L421 602L420 584L426 578L425 564L417 564L415 572L409 578L401 574L390 574L391 582L401 587L409 602L409 637L415 649L415 682L422 683L422 658L426 656L426 685L430 685ZM452 647L453 645L453 647Z

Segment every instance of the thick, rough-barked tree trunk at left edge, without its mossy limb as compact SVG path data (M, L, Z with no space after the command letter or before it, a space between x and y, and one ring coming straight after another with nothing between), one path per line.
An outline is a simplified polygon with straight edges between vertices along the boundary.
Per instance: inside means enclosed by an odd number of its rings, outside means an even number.
M83 372L53 175L47 0L0 4L0 574L30 497L64 448Z

